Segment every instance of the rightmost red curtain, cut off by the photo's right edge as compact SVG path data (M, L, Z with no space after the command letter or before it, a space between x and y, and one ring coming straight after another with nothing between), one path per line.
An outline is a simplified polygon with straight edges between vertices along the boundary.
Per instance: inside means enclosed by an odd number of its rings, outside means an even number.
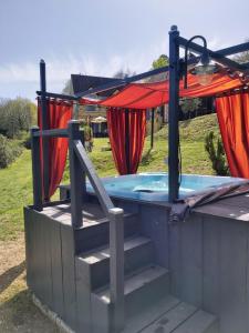
M216 109L230 173L249 179L249 93L217 98Z

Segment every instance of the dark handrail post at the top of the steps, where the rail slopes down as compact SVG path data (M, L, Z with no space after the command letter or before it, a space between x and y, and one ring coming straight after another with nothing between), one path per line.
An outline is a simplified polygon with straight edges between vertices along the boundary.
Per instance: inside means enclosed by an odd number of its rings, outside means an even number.
M74 229L83 225L82 201L84 190L84 173L77 155L74 151L74 140L81 140L79 121L69 121L69 160L70 160L70 183L71 183L71 216Z

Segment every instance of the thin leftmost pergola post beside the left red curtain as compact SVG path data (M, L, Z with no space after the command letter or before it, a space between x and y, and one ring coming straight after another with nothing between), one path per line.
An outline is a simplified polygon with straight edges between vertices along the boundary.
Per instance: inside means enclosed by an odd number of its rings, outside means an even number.
M46 84L45 84L45 62L40 61L40 85L41 85L41 122L42 130L49 130L49 114L46 105ZM43 158L43 190L44 201L49 201L49 182L50 182L50 167L49 167L49 138L42 138L42 158Z

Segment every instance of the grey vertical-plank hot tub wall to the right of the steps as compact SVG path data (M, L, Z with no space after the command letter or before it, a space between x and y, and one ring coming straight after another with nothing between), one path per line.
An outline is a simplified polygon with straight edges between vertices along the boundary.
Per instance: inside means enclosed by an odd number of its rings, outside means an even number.
M169 229L172 293L216 314L220 333L249 332L248 228L198 213Z

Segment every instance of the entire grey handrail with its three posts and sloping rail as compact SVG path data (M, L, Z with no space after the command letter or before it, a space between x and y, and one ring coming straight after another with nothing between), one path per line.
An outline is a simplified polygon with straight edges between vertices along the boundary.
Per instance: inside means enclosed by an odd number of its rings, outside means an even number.
M83 135L77 121L70 121L68 129L40 131L31 129L33 202L34 209L42 211L42 171L40 163L40 138L69 138L71 219L73 229L83 226L82 204L86 194L87 175L101 206L110 220L110 301L113 306L112 331L124 326L124 211L115 208L84 149ZM83 195L82 195L83 194Z

